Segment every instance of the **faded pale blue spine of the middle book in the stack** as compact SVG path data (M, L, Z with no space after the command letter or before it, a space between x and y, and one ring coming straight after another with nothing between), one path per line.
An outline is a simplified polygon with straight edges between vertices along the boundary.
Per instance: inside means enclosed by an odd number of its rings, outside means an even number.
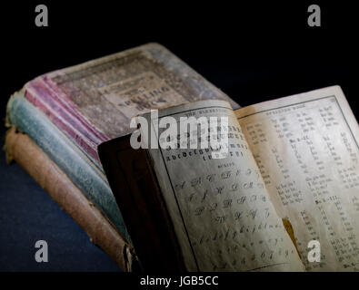
M6 123L25 132L35 141L75 185L130 241L115 197L101 170L79 150L45 115L28 102L23 92L15 93L7 104Z

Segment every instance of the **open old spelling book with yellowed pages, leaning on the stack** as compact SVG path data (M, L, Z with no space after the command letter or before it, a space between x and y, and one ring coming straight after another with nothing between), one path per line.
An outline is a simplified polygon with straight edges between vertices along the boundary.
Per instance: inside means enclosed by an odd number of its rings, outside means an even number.
M359 130L340 87L235 111L208 100L147 113L157 145L168 116L225 117L227 151L135 150L130 136L99 146L145 269L359 270ZM320 261L308 260L312 240Z

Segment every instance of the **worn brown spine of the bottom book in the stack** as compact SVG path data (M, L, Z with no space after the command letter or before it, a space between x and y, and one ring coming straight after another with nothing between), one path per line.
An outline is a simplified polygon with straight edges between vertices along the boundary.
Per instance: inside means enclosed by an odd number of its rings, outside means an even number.
M118 266L125 271L135 270L138 261L134 249L27 135L11 128L6 133L5 151L6 160L15 160L23 167Z

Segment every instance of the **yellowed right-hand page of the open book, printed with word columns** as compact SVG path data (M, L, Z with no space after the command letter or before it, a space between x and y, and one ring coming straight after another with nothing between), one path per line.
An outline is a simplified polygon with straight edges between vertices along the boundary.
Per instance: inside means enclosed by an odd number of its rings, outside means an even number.
M358 124L340 87L235 111L306 270L359 270ZM309 262L311 240L320 262Z

